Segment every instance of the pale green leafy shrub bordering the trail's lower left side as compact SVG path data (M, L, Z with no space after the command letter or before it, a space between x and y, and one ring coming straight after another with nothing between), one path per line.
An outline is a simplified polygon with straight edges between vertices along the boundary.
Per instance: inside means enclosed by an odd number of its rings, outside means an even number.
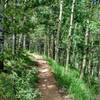
M22 76L19 77L17 73L13 72L13 79L15 81L16 97L20 100L37 100L39 90L36 89L36 69L23 71Z

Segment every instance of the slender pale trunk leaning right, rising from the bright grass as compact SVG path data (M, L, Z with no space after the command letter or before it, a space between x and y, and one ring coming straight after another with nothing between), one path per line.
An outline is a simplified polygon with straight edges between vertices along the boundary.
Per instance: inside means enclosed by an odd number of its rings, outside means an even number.
M71 33L73 28L73 19L74 19L74 8L75 8L76 0L73 0L72 9L71 9L71 17L70 17L70 27L69 33L67 37L67 58L66 58L66 70L68 70L69 59L70 59L70 49L71 49Z

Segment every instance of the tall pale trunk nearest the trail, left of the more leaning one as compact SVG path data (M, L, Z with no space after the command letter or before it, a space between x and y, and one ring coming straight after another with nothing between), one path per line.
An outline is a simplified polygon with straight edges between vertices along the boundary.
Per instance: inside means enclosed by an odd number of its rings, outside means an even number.
M55 60L57 62L59 62L59 39L60 39L62 12L63 12L63 1L61 0L60 1L59 20L58 20L58 29L57 29L57 36L56 36L56 45L55 45Z

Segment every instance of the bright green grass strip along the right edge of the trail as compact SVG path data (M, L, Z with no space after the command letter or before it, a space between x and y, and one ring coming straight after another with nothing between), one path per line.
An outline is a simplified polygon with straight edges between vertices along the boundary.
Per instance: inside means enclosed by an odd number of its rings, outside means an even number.
M74 97L74 100L94 100L91 89L79 78L79 72L74 69L65 71L63 66L57 64L54 60L48 58L55 78L60 87L64 87Z

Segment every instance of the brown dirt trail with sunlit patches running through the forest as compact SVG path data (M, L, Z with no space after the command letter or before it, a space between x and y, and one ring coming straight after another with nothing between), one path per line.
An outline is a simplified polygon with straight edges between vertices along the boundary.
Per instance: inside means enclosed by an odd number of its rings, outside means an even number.
M34 56L39 69L39 89L42 93L41 100L72 100L69 96L62 95L56 85L53 73L47 62L38 55Z

